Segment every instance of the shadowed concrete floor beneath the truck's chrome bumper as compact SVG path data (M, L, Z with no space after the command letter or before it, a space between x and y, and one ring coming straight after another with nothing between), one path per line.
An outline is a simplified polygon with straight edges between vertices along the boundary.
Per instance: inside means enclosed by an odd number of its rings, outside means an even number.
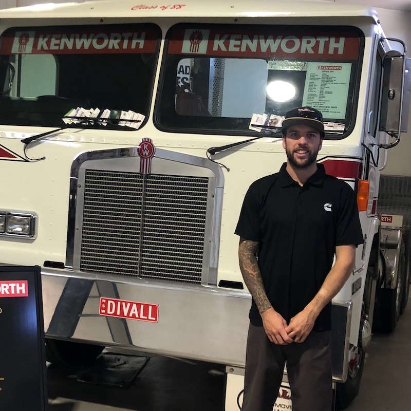
M217 364L152 356L129 387L115 387L79 382L81 369L50 365L49 411L219 411L224 370Z

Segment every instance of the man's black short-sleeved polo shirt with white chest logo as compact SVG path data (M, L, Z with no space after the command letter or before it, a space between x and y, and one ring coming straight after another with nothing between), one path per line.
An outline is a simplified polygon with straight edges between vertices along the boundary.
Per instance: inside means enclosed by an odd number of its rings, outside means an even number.
M289 323L322 286L335 246L362 244L356 196L351 187L325 174L322 164L304 186L286 171L254 181L244 199L235 233L258 241L258 266L273 308ZM262 325L252 302L250 321ZM331 303L314 330L331 328Z

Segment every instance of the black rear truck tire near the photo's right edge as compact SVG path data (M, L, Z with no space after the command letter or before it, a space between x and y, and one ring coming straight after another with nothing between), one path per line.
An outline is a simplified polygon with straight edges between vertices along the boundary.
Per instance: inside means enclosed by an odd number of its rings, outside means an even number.
M372 330L375 332L393 332L401 313L403 285L405 275L405 246L401 244L400 258L398 261L397 287L395 289L379 288L376 292L374 307L374 320Z

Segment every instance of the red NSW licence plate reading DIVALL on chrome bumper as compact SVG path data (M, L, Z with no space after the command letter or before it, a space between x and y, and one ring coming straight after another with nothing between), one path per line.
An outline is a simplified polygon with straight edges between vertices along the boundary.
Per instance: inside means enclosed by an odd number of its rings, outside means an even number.
M101 297L99 314L157 323L158 305Z

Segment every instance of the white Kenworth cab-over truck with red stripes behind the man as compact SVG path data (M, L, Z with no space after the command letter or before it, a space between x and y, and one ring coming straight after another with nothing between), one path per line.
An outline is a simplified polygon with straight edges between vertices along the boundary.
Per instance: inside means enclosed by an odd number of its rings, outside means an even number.
M102 0L4 10L0 33L0 263L42 267L48 360L118 347L224 364L238 409L251 297L234 229L286 159L282 117L313 106L318 161L356 191L364 234L333 300L344 408L372 323L394 329L409 285L401 216L377 207L407 60L375 11Z

